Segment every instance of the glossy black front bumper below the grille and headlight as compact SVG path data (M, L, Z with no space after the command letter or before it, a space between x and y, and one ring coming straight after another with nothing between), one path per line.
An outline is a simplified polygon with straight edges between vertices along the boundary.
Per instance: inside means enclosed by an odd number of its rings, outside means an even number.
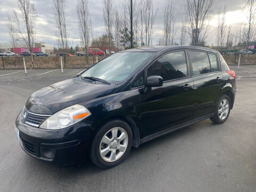
M92 129L80 122L61 130L45 130L22 123L19 115L15 126L26 153L43 161L65 164L85 155L92 135Z

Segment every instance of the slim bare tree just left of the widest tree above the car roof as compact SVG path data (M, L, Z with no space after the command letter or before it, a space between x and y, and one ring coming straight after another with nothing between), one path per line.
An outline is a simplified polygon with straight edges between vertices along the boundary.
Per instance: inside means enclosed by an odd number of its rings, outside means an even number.
M173 1L167 3L164 10L164 32L163 32L163 44L173 45L174 37L177 30L175 29L175 17L174 17L174 4Z

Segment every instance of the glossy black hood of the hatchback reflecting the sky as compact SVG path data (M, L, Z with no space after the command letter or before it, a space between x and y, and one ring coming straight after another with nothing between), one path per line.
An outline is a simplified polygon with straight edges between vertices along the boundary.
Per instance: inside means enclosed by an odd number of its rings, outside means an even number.
M53 114L60 109L110 94L115 85L89 83L75 78L39 89L26 102L31 113Z

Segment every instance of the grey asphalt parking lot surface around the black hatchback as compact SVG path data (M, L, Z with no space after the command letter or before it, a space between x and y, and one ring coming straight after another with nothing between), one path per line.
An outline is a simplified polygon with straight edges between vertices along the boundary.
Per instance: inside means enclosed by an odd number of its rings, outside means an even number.
M207 119L147 142L109 170L38 161L14 135L31 93L81 69L0 70L0 191L255 191L256 66L230 68L238 92L226 123Z

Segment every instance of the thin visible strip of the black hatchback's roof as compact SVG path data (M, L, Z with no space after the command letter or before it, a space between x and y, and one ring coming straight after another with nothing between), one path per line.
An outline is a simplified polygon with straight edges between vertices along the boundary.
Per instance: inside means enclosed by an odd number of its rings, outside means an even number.
M181 46L181 45L171 45L171 46L154 46L154 47L137 47L134 49L125 50L123 52L137 52L137 51L149 51L149 52L165 52L178 49L192 49L192 50L201 50L201 51L210 51L217 53L218 51L199 46Z

